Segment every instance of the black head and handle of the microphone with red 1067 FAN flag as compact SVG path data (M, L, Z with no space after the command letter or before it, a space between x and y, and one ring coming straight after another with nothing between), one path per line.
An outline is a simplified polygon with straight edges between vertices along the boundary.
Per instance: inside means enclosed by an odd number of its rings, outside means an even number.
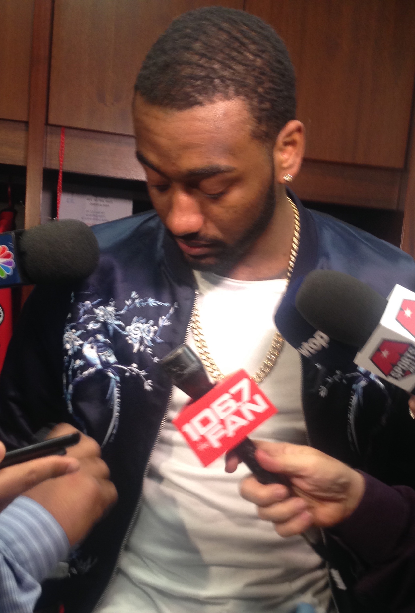
M180 345L170 351L167 356L159 361L159 365L169 375L172 383L190 396L192 400L199 400L215 387L215 384L209 381L199 357L188 345ZM255 458L255 450L256 446L249 438L245 438L232 449L236 452L238 458L248 466L251 473L256 476L257 481L265 485L281 483L291 491L291 482L285 475L271 473L259 465Z

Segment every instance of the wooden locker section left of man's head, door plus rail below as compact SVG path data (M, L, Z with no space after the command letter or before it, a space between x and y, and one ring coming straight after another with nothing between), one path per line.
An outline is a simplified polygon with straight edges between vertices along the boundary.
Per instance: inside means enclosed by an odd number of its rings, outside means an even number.
M66 170L144 180L131 115L139 67L175 17L218 5L243 0L55 0L45 166L57 167L66 126Z

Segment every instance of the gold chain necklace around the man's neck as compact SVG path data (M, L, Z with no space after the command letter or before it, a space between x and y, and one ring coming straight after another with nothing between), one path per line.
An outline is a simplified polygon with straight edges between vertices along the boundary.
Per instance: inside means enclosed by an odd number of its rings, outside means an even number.
M289 264L287 269L287 287L292 275L292 269L294 268L295 260L297 259L297 254L299 253L299 244L300 244L300 216L299 211L297 211L297 207L294 202L289 198L289 203L292 207L292 212L294 213L294 235L292 236L292 245L291 245L291 253L289 258ZM197 352L199 353L199 357L202 360L202 363L209 375L214 381L219 381L219 379L224 378L224 374L219 370L216 366L213 358L210 355L205 336L202 330L202 324L200 322L200 313L199 308L197 308L197 300L199 299L199 292L196 291L196 296L194 300L194 307L191 317L191 328L194 338L194 344L196 345ZM256 373L251 377L255 381L255 383L259 384L264 381L265 377L272 371L275 366L275 362L280 355L281 349L284 345L284 339L281 337L281 334L275 332L275 335L272 339L272 343L270 348L267 351L267 355L265 356L264 361L261 366L258 368Z

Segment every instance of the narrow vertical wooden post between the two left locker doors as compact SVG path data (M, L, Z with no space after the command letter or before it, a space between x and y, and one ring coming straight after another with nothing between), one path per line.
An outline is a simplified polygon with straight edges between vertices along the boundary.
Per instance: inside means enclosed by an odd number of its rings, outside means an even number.
M35 0L29 93L25 228L40 224L53 0Z

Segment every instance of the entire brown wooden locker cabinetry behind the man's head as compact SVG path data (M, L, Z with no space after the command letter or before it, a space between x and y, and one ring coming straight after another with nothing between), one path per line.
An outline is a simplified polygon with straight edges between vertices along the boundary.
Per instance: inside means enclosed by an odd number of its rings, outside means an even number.
M131 120L137 71L173 18L213 5L264 18L287 44L297 72L298 116L307 130L297 194L316 202L405 208L408 237L408 211L415 208L414 137L408 137L414 125L413 0L0 0L7 22L0 62L9 62L0 71L0 162L24 163L31 10L32 59L41 47L29 89L28 223L39 219L42 167L58 168L61 126L64 170L144 178ZM4 97L6 90L11 97ZM13 96L19 104L10 104ZM413 238L405 240L413 245Z

